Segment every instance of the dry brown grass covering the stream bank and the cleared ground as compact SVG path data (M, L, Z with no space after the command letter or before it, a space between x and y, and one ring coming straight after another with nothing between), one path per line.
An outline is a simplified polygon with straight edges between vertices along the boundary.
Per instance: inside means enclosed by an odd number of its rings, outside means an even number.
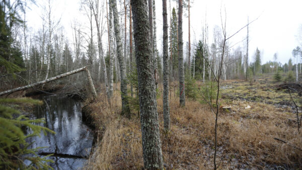
M218 115L219 169L302 167L299 150L302 135L297 131L289 93L282 90L284 86L280 84L269 76L258 78L252 84L244 80L222 82L219 101L221 106L231 109L221 108ZM166 169L211 169L214 115L201 99L186 99L186 106L179 107L175 93L171 90L171 132L168 134L163 130L162 98L158 99L164 166ZM301 99L298 92L291 94L296 102ZM133 113L131 119L120 116L119 92L114 92L112 101L110 107L101 94L97 102L90 104L99 135L85 168L140 169L143 158L139 116L137 113Z

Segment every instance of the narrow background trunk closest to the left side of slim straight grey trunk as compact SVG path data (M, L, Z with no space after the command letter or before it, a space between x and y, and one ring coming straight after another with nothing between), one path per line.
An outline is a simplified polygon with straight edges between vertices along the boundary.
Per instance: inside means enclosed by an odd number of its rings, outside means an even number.
M156 10L155 0L153 0L153 55L154 55L154 76L156 88L158 88L158 53L157 53L157 36L156 36Z

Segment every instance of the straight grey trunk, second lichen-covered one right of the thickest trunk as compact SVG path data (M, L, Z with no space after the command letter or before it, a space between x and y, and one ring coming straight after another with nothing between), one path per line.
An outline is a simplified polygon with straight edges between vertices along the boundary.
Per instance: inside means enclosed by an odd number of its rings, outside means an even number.
M182 11L183 1L178 0L178 75L179 75L179 104L186 105L185 100L185 74L184 74L184 54L183 54L183 32L182 32Z

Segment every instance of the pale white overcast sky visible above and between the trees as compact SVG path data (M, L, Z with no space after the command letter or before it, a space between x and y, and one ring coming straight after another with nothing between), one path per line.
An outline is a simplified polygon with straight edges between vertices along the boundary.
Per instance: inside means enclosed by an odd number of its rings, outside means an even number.
M105 0L99 0L100 2ZM28 27L37 30L42 27L42 6L47 5L47 1L38 1L37 6L30 5L31 10L27 12ZM123 2L123 1L122 1ZM224 19L226 11L226 33L232 35L247 24L247 18L254 21L249 28L249 56L253 58L256 48L262 52L262 63L273 60L274 53L278 53L278 60L282 63L288 61L291 51L297 45L298 30L302 25L300 0L191 0L191 43L201 39L202 26L205 19L208 25L209 42L212 42L213 27L221 27L220 9ZM169 0L168 18L169 18ZM119 6L119 5L118 5ZM176 3L171 1L172 8L176 8ZM88 25L88 19L83 12L80 12L80 0L52 0L54 19L60 20L64 27L69 43L72 42L71 23L78 21L84 26ZM158 48L162 50L162 1L156 0L157 14L157 36ZM186 9L184 12L187 13ZM206 18L205 18L206 16ZM128 21L127 21L128 22ZM128 24L128 23L127 23ZM302 32L302 31L301 31ZM300 33L301 33L300 32ZM244 47L246 50L247 29L243 29L239 34L230 39L230 46L238 43L236 46ZM104 34L104 48L107 48L107 34ZM302 37L302 35L300 35ZM188 19L183 17L183 40L188 41ZM236 47L235 46L235 47ZM186 45L184 44L184 48ZM184 49L185 51L185 49ZM193 53L192 51L191 53ZM250 60L253 61L253 60Z

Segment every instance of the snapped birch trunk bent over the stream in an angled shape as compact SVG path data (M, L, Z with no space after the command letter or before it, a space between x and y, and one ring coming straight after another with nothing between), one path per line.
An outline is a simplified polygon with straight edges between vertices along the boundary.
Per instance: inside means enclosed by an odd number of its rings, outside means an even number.
M23 87L19 87L19 88L16 88L16 89L11 89L11 90L8 90L8 91L5 91L5 92L1 92L0 96L11 94L11 93L14 93L14 92L17 92L17 91L22 91L22 90L27 90L27 89L30 89L30 88L34 88L34 87L39 86L41 84L45 84L47 82L50 82L50 81L53 81L53 80L56 80L56 79L59 79L59 78L62 78L62 77L68 76L68 75L72 75L72 74L75 74L75 73L78 73L78 72L81 72L81 71L86 71L87 77L88 77L88 80L89 80L89 84L90 84L90 88L91 88L91 91L93 93L93 97L96 98L97 97L97 92L95 90L95 87L94 87L93 81L91 79L90 72L87 69L87 66L79 68L79 69L75 69L75 70L60 74L60 75L57 75L55 77L48 78L48 79L43 80L43 81L38 81L38 82L35 82L33 84L29 84L27 86L23 86Z

